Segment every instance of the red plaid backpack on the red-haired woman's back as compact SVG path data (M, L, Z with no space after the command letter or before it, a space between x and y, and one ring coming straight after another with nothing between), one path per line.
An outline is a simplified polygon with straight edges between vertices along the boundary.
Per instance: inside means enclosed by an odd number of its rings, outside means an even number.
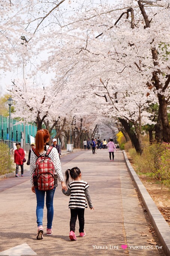
M49 146L46 154L37 155L38 158L36 160L33 181L35 188L37 188L38 190L50 190L55 187L55 167L53 161L48 156L52 149L53 147Z

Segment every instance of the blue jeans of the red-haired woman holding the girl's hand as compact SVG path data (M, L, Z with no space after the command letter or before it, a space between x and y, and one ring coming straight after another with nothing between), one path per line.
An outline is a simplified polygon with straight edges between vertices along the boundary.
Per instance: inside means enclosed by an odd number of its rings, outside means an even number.
M46 192L46 207L47 207L47 229L51 229L54 215L53 198L56 188L51 190L38 190L35 189L37 198L36 216L38 227L42 226L43 210L44 210L44 198Z

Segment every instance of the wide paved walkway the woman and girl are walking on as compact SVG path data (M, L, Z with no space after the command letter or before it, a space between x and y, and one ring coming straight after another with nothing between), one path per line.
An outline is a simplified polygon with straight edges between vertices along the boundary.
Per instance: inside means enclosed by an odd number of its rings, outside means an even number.
M115 152L115 160L110 162L107 150L98 150L95 155L86 150L69 162L62 162L63 174L74 166L80 168L83 180L89 183L95 208L85 210L87 235L78 237L77 221L77 241L69 240L69 197L62 194L58 184L54 196L54 233L36 240L36 198L25 172L23 183L0 192L0 255L165 255L162 249L158 250L161 244L153 237L154 231L138 200L122 151ZM44 208L44 228L45 224ZM4 254L3 251L16 246L15 254Z

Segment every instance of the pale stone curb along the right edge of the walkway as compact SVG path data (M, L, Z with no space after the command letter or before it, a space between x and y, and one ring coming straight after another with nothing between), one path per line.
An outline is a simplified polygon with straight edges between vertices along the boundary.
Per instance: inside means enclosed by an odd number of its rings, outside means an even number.
M140 178L132 168L126 152L123 150L123 155L125 158L126 166L131 175L132 180L135 182L137 190L141 196L141 200L147 210L150 222L152 223L153 228L155 229L156 235L158 236L159 241L161 242L162 248L167 256L170 255L170 227L162 216L161 212L156 207L156 204L150 197Z

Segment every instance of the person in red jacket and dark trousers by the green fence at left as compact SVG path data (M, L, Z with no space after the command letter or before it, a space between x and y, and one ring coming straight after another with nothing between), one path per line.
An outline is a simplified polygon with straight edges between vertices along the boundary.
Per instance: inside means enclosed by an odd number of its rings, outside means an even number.
M16 163L16 170L15 170L15 177L19 177L18 171L19 171L19 165L21 166L21 177L24 176L24 157L25 152L24 149L21 148L21 143L17 142L16 144L17 149L14 151L14 163Z

